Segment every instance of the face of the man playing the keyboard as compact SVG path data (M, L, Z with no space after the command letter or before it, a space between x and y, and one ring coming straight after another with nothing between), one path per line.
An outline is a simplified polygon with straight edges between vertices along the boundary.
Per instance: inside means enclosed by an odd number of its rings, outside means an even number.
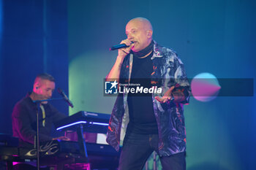
M50 80L39 80L37 89L34 92L37 93L40 100L46 100L51 98L54 89L55 82L51 82Z

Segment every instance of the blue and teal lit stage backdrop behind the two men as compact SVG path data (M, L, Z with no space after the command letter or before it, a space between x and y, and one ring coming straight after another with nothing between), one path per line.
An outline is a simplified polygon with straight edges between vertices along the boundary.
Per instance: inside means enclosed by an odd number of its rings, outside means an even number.
M69 92L75 107L55 101L61 112L110 114L115 98L103 96L103 79L117 53L108 48L126 38L126 23L139 16L151 20L160 45L176 50L189 78L210 72L255 79L255 9L253 0L0 0L0 133L12 134L12 107L39 72L53 74ZM255 103L255 96L191 98L187 169L255 169Z

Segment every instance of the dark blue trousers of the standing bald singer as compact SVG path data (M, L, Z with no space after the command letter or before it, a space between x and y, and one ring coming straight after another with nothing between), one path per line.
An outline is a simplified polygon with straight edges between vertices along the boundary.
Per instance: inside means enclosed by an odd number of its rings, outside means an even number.
M127 134L118 170L143 169L153 151L158 152L158 134ZM163 170L186 170L185 152L159 157Z

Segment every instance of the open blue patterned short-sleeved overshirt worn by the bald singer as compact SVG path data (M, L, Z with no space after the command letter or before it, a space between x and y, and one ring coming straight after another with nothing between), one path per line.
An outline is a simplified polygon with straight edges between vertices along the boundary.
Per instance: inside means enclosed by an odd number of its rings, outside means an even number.
M132 58L131 53L124 58L120 80L129 82L132 72ZM154 42L154 53L151 60L154 70L151 74L151 83L157 83L157 87L162 88L161 94L152 93L154 115L159 134L159 155L168 156L184 152L186 150L186 130L183 104L189 103L191 93L184 65L173 50L161 47L157 42ZM185 90L185 101L181 103L170 101L162 104L154 98L155 96L163 96L173 85L179 85ZM127 93L118 94L108 126L107 142L117 151L119 150L123 117L128 114L127 96ZM125 115L125 117L129 116Z

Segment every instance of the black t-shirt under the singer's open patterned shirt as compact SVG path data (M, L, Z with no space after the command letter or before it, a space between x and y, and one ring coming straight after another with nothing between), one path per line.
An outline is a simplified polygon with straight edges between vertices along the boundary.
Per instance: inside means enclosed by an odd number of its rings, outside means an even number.
M130 83L140 84L144 88L151 88L151 73L153 52L146 58L133 57L132 75ZM130 86L131 87L131 86ZM157 121L154 116L152 94L129 93L129 124L127 133L157 134Z

